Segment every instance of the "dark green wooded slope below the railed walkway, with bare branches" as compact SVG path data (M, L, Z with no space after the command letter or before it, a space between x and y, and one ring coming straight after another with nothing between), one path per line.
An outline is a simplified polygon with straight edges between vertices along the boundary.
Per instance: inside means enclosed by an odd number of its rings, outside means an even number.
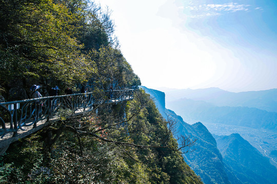
M64 117L11 145L1 157L1 181L202 183L144 91L127 104L98 109L97 116Z

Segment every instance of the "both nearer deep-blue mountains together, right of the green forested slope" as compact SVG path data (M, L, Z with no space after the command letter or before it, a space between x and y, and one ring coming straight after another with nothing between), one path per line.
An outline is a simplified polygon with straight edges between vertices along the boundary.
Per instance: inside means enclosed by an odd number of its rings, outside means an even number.
M152 94L153 91L155 91L154 94ZM157 100L164 97L161 91L159 93L148 89L147 93L152 98L157 97L154 101L164 118L167 118L165 116L167 114L177 122L179 135L197 139L192 147L194 151L183 154L183 157L204 183L242 184L276 181L276 168L239 134L211 135L202 123L189 125L174 111L166 109L163 106L164 100L161 100L161 103Z

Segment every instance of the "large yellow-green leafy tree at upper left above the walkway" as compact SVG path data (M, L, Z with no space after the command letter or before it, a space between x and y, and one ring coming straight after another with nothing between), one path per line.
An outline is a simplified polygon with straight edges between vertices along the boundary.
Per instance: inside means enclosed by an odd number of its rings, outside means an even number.
M96 72L75 37L80 15L51 0L1 0L0 5L2 84L27 78L72 85Z

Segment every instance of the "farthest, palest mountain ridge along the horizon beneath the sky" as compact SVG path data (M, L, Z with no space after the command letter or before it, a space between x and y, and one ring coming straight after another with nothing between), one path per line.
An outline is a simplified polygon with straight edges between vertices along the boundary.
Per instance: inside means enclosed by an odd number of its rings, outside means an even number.
M233 93L220 88L172 89L165 92L166 103L179 99L205 101L216 106L254 107L277 112L277 89Z

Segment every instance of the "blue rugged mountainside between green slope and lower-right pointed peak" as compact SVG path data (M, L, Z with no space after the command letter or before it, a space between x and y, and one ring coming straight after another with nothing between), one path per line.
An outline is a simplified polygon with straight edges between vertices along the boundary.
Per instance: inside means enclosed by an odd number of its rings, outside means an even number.
M192 152L183 154L186 163L200 175L203 182L209 183L230 183L220 151L216 147L216 141L208 129L200 122L193 125L180 120L180 117L171 111L166 111L170 116L178 120L177 131L181 135L190 136L196 139Z

